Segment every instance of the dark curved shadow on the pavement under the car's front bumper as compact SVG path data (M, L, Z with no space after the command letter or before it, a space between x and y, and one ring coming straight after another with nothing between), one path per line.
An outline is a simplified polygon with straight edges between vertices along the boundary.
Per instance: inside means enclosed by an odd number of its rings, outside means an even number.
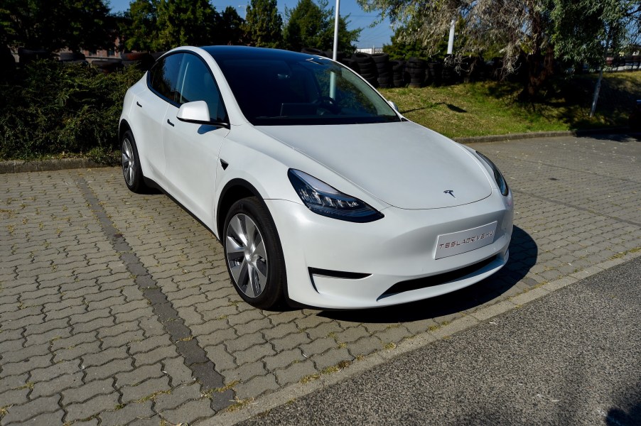
M500 298L527 275L537 263L538 248L526 231L514 226L510 259L497 273L468 288L419 302L367 310L325 310L321 317L349 322L394 323L426 320L456 314ZM532 283L533 285L536 282Z

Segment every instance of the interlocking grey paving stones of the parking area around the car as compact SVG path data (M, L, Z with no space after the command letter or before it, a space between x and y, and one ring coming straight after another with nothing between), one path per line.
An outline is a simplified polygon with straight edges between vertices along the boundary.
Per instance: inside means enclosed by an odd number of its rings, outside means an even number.
M510 262L451 295L355 312L246 305L215 237L116 168L0 175L0 424L197 423L641 251L640 141L474 147L515 194Z

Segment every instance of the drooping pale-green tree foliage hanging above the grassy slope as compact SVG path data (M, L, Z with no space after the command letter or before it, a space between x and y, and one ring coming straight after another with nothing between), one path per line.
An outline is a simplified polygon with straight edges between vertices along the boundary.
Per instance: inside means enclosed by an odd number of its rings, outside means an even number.
M576 33L569 33L569 25L559 25L559 20L567 18L559 9L565 6L572 11L575 28L590 30L595 26L596 18L600 27L608 27L611 21L608 13L598 13L598 4L604 6L602 11L614 10L623 5L631 13L636 11L638 21L638 0L443 0L416 2L412 0L358 0L367 11L378 10L389 16L392 23L406 26L402 37L407 40L419 40L431 55L434 47L448 34L453 18L462 18L458 37L463 38L462 50L456 52L456 58L462 55L481 54L491 46L500 47L503 54L503 71L507 75L515 72L520 66L525 67L523 96L534 97L542 84L553 71L554 54L569 50L576 52L576 45L567 43L569 49L556 49L559 40L571 40ZM572 5L576 4L576 8ZM615 19L616 21L616 19ZM569 22L566 19L566 22ZM619 21L623 26L625 22ZM586 31L586 40L592 34ZM602 50L601 42L591 43L587 49L593 54L596 48ZM573 46L573 47L571 47ZM587 51L587 50L586 50ZM577 55L578 56L578 55ZM585 55L583 55L585 56Z

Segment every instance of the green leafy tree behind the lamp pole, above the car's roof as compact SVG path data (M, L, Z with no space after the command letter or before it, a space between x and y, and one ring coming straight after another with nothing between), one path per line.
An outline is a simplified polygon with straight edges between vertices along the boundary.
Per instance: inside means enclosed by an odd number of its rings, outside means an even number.
M284 42L289 50L302 48L331 50L334 45L334 9L328 7L327 0L316 4L313 0L299 0L293 9L286 9L287 24L284 29ZM360 35L361 28L348 31L349 16L338 20L338 50L353 53L353 44Z

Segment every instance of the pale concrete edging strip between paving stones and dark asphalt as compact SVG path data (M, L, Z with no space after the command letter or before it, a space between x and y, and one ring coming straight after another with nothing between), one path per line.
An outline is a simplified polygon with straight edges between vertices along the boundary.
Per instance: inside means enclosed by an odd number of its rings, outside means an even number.
M364 371L370 370L380 364L384 364L389 361L389 359L406 354L414 349L419 349L437 340L447 339L448 337L451 337L451 335L474 327L480 322L491 320L498 315L544 297L556 290L560 290L567 285L576 283L591 275L596 275L597 273L612 268L613 266L631 261L639 256L641 256L641 251L632 251L621 257L610 259L608 261L598 263L598 265L591 266L590 268L583 269L583 271L578 271L577 273L572 273L563 278L559 278L558 280L539 285L539 287L532 288L532 290L510 297L509 299L498 302L495 305L480 308L472 314L458 318L457 320L439 327L436 330L422 332L421 334L416 335L416 337L406 339L402 343L398 344L394 349L377 351L370 356L366 356L362 361L352 362L352 364L340 371L337 371L336 373L323 374L317 380L305 384L293 383L279 391L259 397L259 403L253 403L253 401L250 401L238 411L232 413L221 413L199 422L198 424L201 426L235 425L238 422L242 422L256 415L266 413L280 405L289 403L296 398L302 398L303 396L313 393L314 391L318 391L321 388L331 386Z

